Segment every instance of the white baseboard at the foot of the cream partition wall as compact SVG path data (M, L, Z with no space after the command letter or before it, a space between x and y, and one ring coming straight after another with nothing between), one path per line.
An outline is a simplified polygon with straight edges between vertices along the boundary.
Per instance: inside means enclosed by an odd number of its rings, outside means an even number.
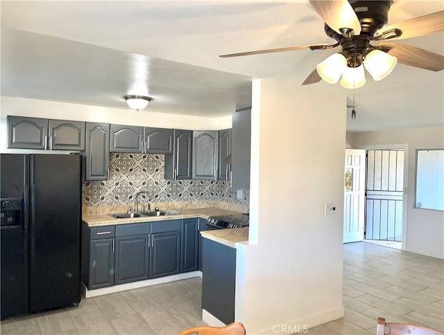
M313 314L310 316L305 316L303 318L298 318L286 323L280 323L273 325L268 329L264 329L260 332L255 332L255 334L305 334L307 329L322 325L344 316L344 307L338 307L336 309L330 309L328 311L322 311L318 314ZM308 332L309 333L309 332Z

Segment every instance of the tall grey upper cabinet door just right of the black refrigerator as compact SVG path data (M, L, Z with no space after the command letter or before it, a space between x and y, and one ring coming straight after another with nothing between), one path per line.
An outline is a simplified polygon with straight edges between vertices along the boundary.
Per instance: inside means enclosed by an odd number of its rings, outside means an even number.
M85 179L107 180L110 161L110 125L86 123Z

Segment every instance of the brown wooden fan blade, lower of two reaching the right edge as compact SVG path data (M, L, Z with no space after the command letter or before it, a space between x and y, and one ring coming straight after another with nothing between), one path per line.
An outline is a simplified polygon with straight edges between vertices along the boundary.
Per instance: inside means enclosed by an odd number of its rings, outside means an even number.
M389 48L389 55L398 58L398 62L409 66L430 71L441 71L444 69L444 56L432 53L416 46L398 43L381 43L378 45L382 50Z

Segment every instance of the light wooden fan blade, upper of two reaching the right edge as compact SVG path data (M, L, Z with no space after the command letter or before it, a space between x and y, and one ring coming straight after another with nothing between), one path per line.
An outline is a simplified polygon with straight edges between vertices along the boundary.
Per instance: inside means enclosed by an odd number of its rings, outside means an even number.
M400 37L395 37L395 39L405 39L438 33L444 30L444 10L386 26L378 31L375 39L388 30L393 30L395 28L402 30L402 35Z

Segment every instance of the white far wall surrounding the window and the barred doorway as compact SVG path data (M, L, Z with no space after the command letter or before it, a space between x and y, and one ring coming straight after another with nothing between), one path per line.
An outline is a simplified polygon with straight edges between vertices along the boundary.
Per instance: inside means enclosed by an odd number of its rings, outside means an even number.
M444 147L444 127L399 129L384 132L359 132L353 138L354 147L366 145L409 145L408 164L408 203L406 250L422 255L444 258L444 212L414 207L416 179L416 150L442 149ZM405 184L405 183L404 183Z

